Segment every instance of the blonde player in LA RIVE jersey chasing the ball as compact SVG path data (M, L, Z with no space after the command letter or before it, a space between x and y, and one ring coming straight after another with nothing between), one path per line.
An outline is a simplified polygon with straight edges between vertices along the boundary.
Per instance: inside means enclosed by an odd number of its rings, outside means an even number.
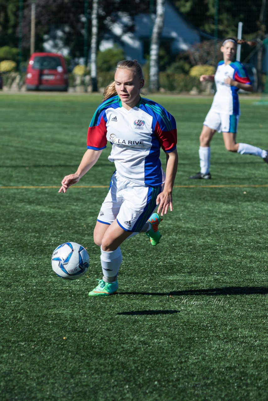
M172 211L172 188L178 166L176 122L164 107L140 97L143 85L137 61L117 64L115 81L105 88L104 101L90 122L88 149L78 170L61 181L59 192L64 193L94 166L107 141L111 143L108 160L115 163L116 171L94 229L103 277L89 292L90 296L117 291L121 243L131 234L145 232L151 244L157 245L161 237L160 215L169 208ZM160 148L166 152L165 179ZM157 213L153 213L157 205Z

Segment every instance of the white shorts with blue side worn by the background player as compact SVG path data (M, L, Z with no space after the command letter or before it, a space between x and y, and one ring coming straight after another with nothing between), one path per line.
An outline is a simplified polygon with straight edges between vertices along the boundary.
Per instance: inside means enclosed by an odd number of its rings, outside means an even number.
M236 134L239 115L222 114L209 110L206 115L204 125L218 132L232 132Z

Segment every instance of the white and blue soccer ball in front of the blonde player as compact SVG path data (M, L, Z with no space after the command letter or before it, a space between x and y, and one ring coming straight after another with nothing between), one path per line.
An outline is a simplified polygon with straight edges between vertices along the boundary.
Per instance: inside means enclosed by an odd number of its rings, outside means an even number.
M89 267L89 256L84 247L76 242L65 242L52 253L53 271L62 278L80 278Z

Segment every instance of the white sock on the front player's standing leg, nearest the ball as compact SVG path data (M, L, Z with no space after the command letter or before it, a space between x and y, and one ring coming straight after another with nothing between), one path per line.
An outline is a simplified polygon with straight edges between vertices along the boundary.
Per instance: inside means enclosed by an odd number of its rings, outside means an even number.
M100 247L100 251L100 264L103 273L102 279L107 283L111 283L116 280L122 262L121 249L118 247L115 251L106 252Z

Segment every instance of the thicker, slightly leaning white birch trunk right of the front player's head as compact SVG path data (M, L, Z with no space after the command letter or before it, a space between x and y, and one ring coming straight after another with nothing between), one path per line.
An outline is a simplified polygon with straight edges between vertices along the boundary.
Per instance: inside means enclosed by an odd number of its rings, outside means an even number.
M160 45L160 35L162 33L165 16L165 0L156 0L156 16L153 24L150 46L150 71L149 71L149 89L152 92L159 89L159 68L158 53Z

